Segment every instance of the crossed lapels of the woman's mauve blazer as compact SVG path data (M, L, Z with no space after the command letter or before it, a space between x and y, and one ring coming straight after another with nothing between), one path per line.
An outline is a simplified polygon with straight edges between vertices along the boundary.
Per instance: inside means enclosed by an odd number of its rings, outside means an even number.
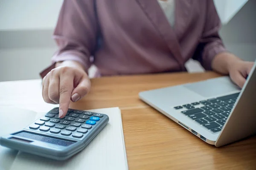
M156 28L160 36L165 40L173 56L179 63L181 70L183 71L186 71L186 68L184 66L184 61L181 54L180 45L176 36L176 31L180 32L178 28L181 28L186 24L187 17L185 17L181 23L180 21L177 21L177 19L180 20L180 18L189 15L186 10L189 9L190 1L192 0L175 0L175 28L172 28L157 0L137 0L137 3L139 3L140 7L144 11L148 19L154 25L154 28ZM184 9L183 5L185 5Z

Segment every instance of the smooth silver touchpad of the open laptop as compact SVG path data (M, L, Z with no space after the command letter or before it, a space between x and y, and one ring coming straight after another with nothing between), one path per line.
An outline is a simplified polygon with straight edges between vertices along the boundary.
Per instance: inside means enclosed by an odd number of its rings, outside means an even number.
M229 77L219 77L202 82L184 85L185 88L194 91L204 97L221 96L241 90Z

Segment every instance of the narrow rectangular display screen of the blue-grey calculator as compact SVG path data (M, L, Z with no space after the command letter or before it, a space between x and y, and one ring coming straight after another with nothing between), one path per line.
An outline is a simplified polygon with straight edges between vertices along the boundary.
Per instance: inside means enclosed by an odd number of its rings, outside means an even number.
M46 143L50 143L50 144L56 144L56 145L60 145L60 146L69 146L69 145L75 143L75 142L66 141L63 139L56 139L56 138L38 135L38 134L34 134L34 133L28 133L28 132L16 133L15 136L20 136L20 137L23 137L26 139L33 139L36 141L46 142Z

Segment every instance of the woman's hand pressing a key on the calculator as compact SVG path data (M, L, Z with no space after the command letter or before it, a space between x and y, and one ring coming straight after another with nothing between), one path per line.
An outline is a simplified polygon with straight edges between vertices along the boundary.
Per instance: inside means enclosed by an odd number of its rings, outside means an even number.
M76 102L90 90L90 79L78 62L57 63L43 79L42 95L44 101L59 104L59 117L67 114L70 100Z

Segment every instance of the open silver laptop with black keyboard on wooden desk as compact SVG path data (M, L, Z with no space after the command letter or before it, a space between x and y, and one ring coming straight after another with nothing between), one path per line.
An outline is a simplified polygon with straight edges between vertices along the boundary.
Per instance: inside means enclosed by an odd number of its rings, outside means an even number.
M256 134L256 62L242 89L223 76L142 91L139 97L216 147Z

